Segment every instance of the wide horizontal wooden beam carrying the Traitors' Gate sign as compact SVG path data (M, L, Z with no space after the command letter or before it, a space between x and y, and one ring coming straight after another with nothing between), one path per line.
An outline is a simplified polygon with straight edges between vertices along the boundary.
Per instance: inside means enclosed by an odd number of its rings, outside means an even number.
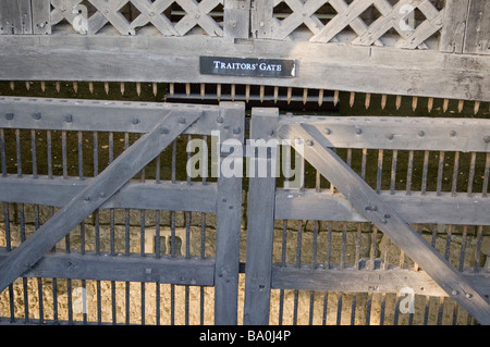
M9 35L0 79L248 84L490 101L490 58L437 50L188 35ZM297 61L296 78L201 75L199 55Z

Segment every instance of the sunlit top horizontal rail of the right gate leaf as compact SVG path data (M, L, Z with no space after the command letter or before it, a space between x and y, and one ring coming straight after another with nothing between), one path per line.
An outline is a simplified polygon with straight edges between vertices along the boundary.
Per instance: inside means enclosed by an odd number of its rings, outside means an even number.
M282 116L281 122L308 122L324 134L329 147L336 148L490 151L489 120Z

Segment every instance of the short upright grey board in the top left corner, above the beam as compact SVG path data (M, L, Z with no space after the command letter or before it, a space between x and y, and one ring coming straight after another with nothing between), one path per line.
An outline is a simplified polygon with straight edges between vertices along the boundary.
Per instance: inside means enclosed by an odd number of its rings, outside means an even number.
M30 0L0 1L0 34L33 34Z

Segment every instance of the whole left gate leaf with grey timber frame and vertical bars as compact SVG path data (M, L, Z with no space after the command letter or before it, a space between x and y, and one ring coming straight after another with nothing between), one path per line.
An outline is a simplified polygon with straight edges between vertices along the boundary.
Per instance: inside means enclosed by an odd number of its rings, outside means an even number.
M142 282L142 323L144 323L145 284L156 283L158 293L160 284L171 284L172 322L174 320L174 285L182 285L186 288L186 322L188 323L188 287L201 286L201 305L204 287L215 287L213 322L236 324L242 178L221 176L212 182L206 179L206 174L200 175L199 177L203 178L198 181L189 176L182 179L176 176L175 165L179 163L175 156L177 140L182 141L183 138L188 140L191 137L204 136L199 138L204 141L203 144L207 144L207 138L218 134L221 140L242 141L244 104L224 102L219 107L210 107L2 97L0 109L2 114L0 117L2 172L0 201L4 202L7 245L0 252L0 292L7 287L10 288L11 306L13 306L11 284L20 276L39 278L40 323L48 320L42 309L40 277L69 278L69 281L77 278L83 281L83 287L85 287L85 280L97 280L99 290L100 281L111 281L113 310L115 307L114 283L118 281L124 281L126 284ZM212 131L216 133L211 134ZM107 136L103 137L103 134ZM118 141L114 139L114 134L123 134L121 141L124 141L124 149L119 156L114 153L114 147L118 146L114 144ZM136 134L144 135L130 146L131 136ZM77 156L69 149L71 145L68 142L73 136L77 144L74 150ZM9 138L12 140L15 138L15 140L9 141ZM29 149L27 151L21 149L25 145L23 138L30 138L30 144L27 142ZM83 156L83 145L90 138L94 140L94 152L89 153L94 159L94 172L87 174L84 162L86 165L88 163L87 157ZM108 140L107 145L101 144L102 138ZM61 158L54 149L60 147L56 144L58 140L62 142ZM47 153L37 150L36 142L39 141L44 142L42 148L47 149ZM15 153L12 152L11 147L5 146L5 142L16 144ZM163 157L169 146L171 152ZM101 148L109 150L109 162L107 168L99 172L102 165ZM23 168L22 156L27 156L29 151L32 168ZM13 160L11 162L13 158L11 154L16 158L16 162ZM71 157L77 157L78 175L73 175L73 170L69 168L70 161L73 160ZM163 158L170 158L169 162L164 163ZM182 159L179 160L182 161ZM220 163L221 159L217 156L216 160ZM148 169L149 163L154 163L152 169ZM57 166L61 166L62 170L57 171ZM10 203L17 203L15 206L20 210L21 243L19 245L13 243ZM35 207L36 231L26 237L25 208L27 206ZM52 207L48 212L51 216L44 223L42 215L39 213L41 206ZM58 207L61 208L53 213L54 208ZM136 245L137 251L131 246L130 209L140 211L142 224L139 245ZM114 219L118 210L126 211L123 216L126 228L122 249L115 245ZM147 210L154 210L156 213L151 235L148 230L145 230L145 221L150 213L147 212L145 215ZM103 211L109 211L110 214L110 236L108 237L110 244L107 247L101 244L102 237L100 237ZM166 236L170 239L169 243L160 243L164 236L160 227L162 211L184 211L185 213L185 231L180 233L175 228L175 212L171 212L170 230ZM197 212L203 218L201 228L197 232L191 231L192 212ZM212 244L216 243L216 251L209 250L209 240L206 239L211 237L209 235L211 232L206 231L206 214L208 218L209 215L216 218L216 236L212 236L216 237L212 241ZM96 221L96 235L91 248L88 246L88 232L85 232L85 226L88 231L86 221L89 218ZM75 249L73 237L70 243L68 235L78 227L81 239L76 243ZM59 241L64 237L66 237L65 245L60 247ZM192 238L198 239L200 248L191 248ZM182 247L176 246L177 241L182 243ZM151 249L148 249L148 245ZM166 245L170 248L167 251ZM71 282L69 283L71 287ZM25 290L26 286L24 280ZM57 290L56 285L53 290ZM71 301L72 294L68 295ZM56 299L53 300L54 311L57 311L58 303ZM126 323L130 322L128 300L130 290L126 285ZM99 292L99 323L101 321L100 305ZM160 318L158 301L154 308L157 310L158 323ZM27 313L28 302L25 302L25 310ZM12 307L12 319L13 311ZM203 322L203 309L200 315ZM28 317L27 313L26 321L29 320ZM69 321L72 319L73 308L69 305ZM84 320L86 319L84 310ZM58 315L54 313L51 320L58 321ZM119 322L115 311L112 312L112 320L114 323Z

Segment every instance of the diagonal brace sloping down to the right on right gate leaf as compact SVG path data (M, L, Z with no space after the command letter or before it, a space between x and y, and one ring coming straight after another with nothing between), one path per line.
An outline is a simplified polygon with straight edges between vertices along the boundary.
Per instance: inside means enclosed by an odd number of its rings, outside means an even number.
M329 148L331 144L318 128L306 123L283 124L279 127L278 135L291 139L297 150L303 149L305 159L329 179L359 213L387 234L480 324L490 324L488 300ZM296 139L302 141L296 142ZM299 148L299 144L304 144L304 147Z

